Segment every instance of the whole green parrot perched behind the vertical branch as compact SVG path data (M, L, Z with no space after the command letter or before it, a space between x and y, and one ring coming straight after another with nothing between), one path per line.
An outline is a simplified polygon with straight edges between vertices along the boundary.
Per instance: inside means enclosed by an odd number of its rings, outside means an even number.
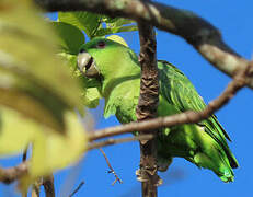
M137 120L141 70L137 55L123 39L94 38L83 44L78 68L99 82L97 89L105 99L105 118L116 115L122 124ZM176 67L159 60L158 68L158 116L205 108L203 99ZM165 171L172 159L180 157L214 171L223 182L233 181L232 169L238 167L238 161L228 147L230 138L215 115L197 124L163 128L157 138L159 171Z

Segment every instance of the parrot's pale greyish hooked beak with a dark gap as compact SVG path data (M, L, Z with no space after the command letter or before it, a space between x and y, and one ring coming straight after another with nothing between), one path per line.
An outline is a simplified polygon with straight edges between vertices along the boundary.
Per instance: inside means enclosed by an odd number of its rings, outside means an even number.
M78 68L88 78L96 78L100 76L94 59L87 51L78 55Z

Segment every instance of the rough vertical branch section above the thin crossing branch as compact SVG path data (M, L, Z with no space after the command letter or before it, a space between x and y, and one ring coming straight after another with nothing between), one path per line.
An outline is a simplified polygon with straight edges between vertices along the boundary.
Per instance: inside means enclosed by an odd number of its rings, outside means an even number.
M141 66L140 96L136 111L137 119L157 116L159 103L159 77L157 66L157 40L152 26L138 23L140 38L139 62Z

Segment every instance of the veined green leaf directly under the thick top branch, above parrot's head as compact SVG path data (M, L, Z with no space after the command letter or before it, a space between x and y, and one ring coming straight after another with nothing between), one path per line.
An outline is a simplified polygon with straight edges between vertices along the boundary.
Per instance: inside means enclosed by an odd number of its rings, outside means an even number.
M90 12L58 12L58 20L84 31L90 38L101 25L101 15Z

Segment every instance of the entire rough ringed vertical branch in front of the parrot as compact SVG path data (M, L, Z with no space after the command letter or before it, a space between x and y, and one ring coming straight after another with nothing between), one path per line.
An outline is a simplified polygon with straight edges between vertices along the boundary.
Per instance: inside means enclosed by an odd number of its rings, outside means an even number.
M138 22L141 66L140 95L136 108L138 121L157 117L159 104L159 77L157 66L157 40L153 26ZM139 130L137 130L139 131ZM156 135L158 130L149 130L154 139L140 140L140 170L138 179L141 182L142 196L157 196L157 144ZM141 132L140 132L141 134Z

